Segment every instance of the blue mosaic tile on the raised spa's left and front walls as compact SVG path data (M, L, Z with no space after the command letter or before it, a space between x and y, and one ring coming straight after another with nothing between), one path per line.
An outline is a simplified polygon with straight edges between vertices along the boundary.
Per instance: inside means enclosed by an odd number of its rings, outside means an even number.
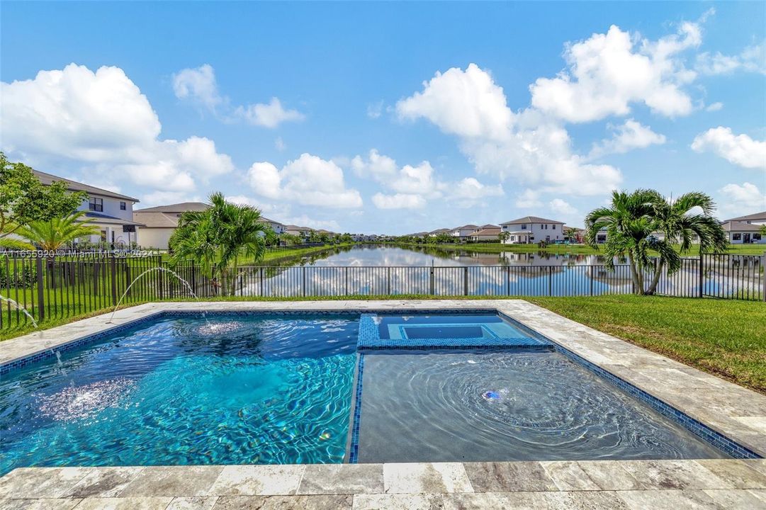
M454 313L454 312L452 312ZM496 312L493 312L495 314ZM375 323L374 313L362 313L359 318L358 351L385 349L408 349L417 351L441 349L492 349L512 348L524 351L552 351L553 345L544 338L499 337L494 338L381 338L380 327Z

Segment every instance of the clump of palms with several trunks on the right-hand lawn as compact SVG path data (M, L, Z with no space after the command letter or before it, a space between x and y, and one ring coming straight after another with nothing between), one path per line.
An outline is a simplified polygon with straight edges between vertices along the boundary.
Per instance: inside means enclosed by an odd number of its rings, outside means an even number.
M598 248L597 234L606 230L604 266L614 270L614 258L627 257L635 293L653 294L663 270L673 274L681 268L674 241L681 244L680 253L691 250L695 234L700 253L725 250L726 234L711 215L714 207L712 199L703 193L687 193L671 203L650 189L614 191L610 207L594 209L585 217L585 241ZM692 214L695 208L700 208L702 214ZM656 260L652 252L657 253ZM653 274L648 287L644 285L646 274Z

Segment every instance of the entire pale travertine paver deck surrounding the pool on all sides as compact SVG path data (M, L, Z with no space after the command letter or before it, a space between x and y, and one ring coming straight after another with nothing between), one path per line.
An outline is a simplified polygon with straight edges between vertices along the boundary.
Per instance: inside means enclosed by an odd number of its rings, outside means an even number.
M0 364L162 310L496 309L766 456L766 397L521 300L163 302L0 344ZM766 508L766 461L17 469L5 508Z

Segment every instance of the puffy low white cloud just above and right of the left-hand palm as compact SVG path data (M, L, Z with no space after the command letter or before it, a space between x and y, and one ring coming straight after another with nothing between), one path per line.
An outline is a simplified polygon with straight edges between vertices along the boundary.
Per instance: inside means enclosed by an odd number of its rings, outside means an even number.
M326 208L362 207L359 192L345 187L343 169L316 155L304 153L281 170L270 162L257 162L247 176L254 191L266 198Z

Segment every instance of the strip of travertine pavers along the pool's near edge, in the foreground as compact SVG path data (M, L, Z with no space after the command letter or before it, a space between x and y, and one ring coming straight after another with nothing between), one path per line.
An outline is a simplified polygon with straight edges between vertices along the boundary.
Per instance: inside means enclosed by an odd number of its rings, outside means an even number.
M0 479L0 509L18 508L755 510L766 461L21 468Z

